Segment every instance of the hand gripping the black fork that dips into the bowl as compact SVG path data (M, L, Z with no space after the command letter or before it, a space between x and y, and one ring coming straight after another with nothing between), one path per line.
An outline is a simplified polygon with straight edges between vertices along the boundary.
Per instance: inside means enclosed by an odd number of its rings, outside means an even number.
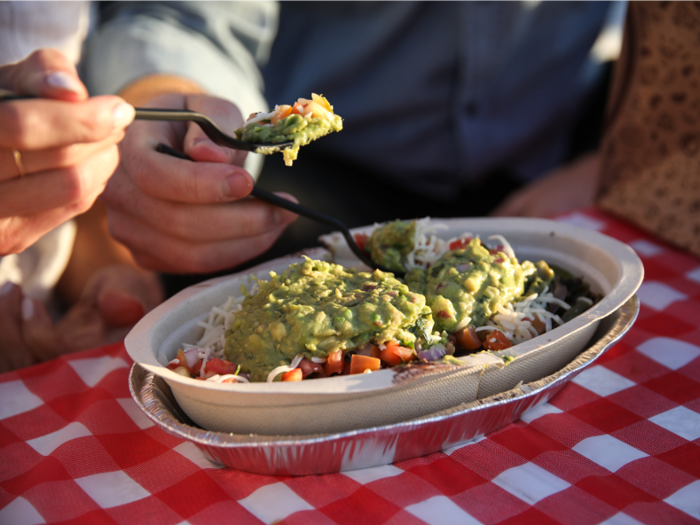
M171 93L145 105L205 113L231 133L243 124L233 104L207 95ZM197 162L156 152L159 142ZM296 219L246 198L254 181L241 167L245 152L216 146L194 123L135 122L120 150L122 162L103 195L109 230L145 268L231 268L267 250Z

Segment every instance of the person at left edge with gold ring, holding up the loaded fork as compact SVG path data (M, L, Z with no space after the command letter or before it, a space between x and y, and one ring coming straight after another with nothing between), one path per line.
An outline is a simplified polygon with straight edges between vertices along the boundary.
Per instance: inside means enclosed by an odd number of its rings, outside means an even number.
M27 4L0 4L0 88L41 97L0 102L0 372L117 340L163 296L95 204L133 107L88 97L73 64L80 17L66 16L79 3ZM73 60L31 52L50 37ZM67 309L58 319L57 305Z

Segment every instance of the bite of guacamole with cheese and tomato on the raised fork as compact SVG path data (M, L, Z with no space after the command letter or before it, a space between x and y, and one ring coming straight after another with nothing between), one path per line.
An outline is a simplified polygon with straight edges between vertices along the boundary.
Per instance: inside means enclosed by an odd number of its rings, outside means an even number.
M293 106L275 106L273 112L254 114L249 121L235 130L236 138L255 144L294 142L282 150L287 166L297 159L301 146L343 129L343 119L333 113L333 106L315 93L311 100L300 98Z

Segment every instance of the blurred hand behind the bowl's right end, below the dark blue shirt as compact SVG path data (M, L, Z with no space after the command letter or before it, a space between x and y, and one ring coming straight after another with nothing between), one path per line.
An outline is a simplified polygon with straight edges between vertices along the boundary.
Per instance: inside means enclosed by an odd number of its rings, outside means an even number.
M591 153L516 191L491 212L495 217L552 217L592 206L600 154Z

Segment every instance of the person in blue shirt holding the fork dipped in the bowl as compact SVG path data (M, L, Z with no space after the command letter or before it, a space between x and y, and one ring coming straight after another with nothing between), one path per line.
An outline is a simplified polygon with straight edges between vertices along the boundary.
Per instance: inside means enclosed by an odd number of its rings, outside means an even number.
M343 131L302 149L293 168L268 159L260 181L348 226L545 216L592 202L595 145L574 158L572 137L601 85L591 50L611 3L621 2L104 0L86 82L208 113L229 132L268 108L263 92L271 105L323 94ZM157 142L199 162L167 158ZM194 124L137 122L120 148L104 196L110 227L149 268L230 269L293 219L240 200L256 173ZM297 225L306 236L285 250L319 233Z

